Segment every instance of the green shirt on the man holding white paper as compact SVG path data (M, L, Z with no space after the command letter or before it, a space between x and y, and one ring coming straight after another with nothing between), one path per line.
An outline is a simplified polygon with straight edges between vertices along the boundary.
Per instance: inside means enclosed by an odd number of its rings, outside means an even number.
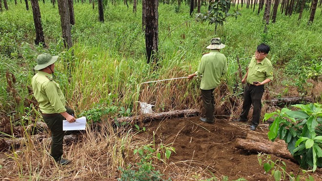
M62 113L66 111L65 97L52 76L46 72L38 71L31 80L34 96L39 102L42 113Z

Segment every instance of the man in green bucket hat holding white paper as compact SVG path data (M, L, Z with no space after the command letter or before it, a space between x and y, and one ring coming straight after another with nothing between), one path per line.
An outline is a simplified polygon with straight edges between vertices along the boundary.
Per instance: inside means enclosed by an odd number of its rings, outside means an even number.
M62 121L75 122L74 111L65 107L65 97L60 86L53 80L55 62L58 56L42 53L37 57L35 70L38 73L32 78L31 85L34 96L39 102L43 121L51 131L51 156L57 163L65 165L71 161L62 159L62 142L65 132L62 130Z

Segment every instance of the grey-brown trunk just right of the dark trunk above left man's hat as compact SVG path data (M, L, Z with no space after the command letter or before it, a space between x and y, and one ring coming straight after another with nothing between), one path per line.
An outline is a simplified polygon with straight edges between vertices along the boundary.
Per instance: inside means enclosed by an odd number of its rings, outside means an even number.
M58 0L58 10L60 14L60 24L62 30L62 39L64 41L64 47L69 49L73 46L73 42L68 14L68 3L66 0Z

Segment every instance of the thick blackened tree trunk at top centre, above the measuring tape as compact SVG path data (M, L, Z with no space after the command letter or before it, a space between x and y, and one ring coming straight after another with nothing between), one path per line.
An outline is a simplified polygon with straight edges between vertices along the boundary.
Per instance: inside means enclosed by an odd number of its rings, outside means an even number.
M193 1L193 0L191 0ZM146 16L145 16L145 49L147 63L150 63L152 58L158 52L158 36L159 36L159 13L158 13L158 0L146 0Z

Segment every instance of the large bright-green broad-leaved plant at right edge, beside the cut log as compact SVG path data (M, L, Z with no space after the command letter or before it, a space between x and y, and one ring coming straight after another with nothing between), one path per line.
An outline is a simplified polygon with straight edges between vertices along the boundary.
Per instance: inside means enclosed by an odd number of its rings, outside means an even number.
M268 138L280 138L287 143L287 149L302 168L322 166L322 104L296 104L293 107L266 113L264 120L276 116L269 127Z

